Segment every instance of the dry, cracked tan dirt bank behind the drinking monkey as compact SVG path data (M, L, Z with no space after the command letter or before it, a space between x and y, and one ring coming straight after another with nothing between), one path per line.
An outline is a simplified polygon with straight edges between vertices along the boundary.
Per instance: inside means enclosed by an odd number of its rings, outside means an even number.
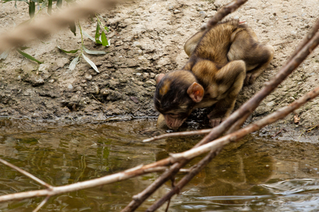
M105 26L111 29L107 34L111 46L106 49L106 55L87 55L100 73L83 59L75 70L69 70L76 55L67 55L57 46L66 50L80 48L80 33L74 37L68 29L27 45L31 48L25 51L44 64L29 61L12 50L6 60L0 61L0 116L73 120L103 120L114 115L155 116L155 77L185 64L188 57L183 49L184 42L218 8L229 2L140 0L104 12L101 15ZM319 1L248 1L228 17L245 21L255 30L262 44L275 48L275 57L265 73L255 84L241 91L236 103L238 107L282 67L319 17ZM17 2L17 8L12 2L1 3L0 33L27 19L26 3ZM80 23L86 32L94 35L95 21L85 19ZM90 50L105 50L89 39L85 39L85 46ZM316 87L318 66L317 48L264 99L251 119L264 117ZM300 117L299 126L319 124L318 101L318 98L314 99L296 111ZM287 123L293 123L293 115L279 122Z

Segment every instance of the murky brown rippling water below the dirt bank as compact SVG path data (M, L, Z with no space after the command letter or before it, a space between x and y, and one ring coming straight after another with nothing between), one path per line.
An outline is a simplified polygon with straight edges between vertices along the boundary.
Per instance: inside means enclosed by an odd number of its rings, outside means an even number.
M141 130L153 127L154 120L139 119L78 125L0 119L0 157L53 186L62 186L155 162L200 140L141 143L151 132ZM318 144L249 135L227 146L171 201L169 211L318 211L318 149ZM51 197L42 211L120 211L158 176L152 173ZM35 189L42 186L0 164L0 195ZM169 183L162 186L138 211L169 189ZM1 203L0 211L32 211L42 200Z

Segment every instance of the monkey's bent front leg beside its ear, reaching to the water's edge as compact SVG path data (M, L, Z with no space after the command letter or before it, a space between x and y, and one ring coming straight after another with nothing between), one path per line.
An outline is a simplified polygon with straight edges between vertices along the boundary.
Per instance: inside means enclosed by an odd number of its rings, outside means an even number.
M221 84L215 85L215 88L221 93L221 99L216 103L212 112L207 115L212 127L221 124L232 113L236 97L245 79L245 62L231 61L218 70L216 79L221 82Z

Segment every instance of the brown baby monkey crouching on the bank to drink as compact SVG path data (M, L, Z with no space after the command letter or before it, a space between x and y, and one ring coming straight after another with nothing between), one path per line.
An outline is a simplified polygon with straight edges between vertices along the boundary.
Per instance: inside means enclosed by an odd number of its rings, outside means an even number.
M243 84L252 84L270 64L273 46L261 45L238 20L197 32L184 45L189 55L181 70L157 77L157 127L178 129L195 108L215 105L207 117L214 127L232 113Z

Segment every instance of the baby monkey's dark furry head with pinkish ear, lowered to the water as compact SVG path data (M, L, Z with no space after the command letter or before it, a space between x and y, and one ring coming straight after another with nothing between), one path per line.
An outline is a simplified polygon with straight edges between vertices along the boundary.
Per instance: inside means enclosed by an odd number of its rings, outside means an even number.
M204 96L204 88L189 70L175 70L156 79L154 104L165 119L166 125L176 130L191 114Z

